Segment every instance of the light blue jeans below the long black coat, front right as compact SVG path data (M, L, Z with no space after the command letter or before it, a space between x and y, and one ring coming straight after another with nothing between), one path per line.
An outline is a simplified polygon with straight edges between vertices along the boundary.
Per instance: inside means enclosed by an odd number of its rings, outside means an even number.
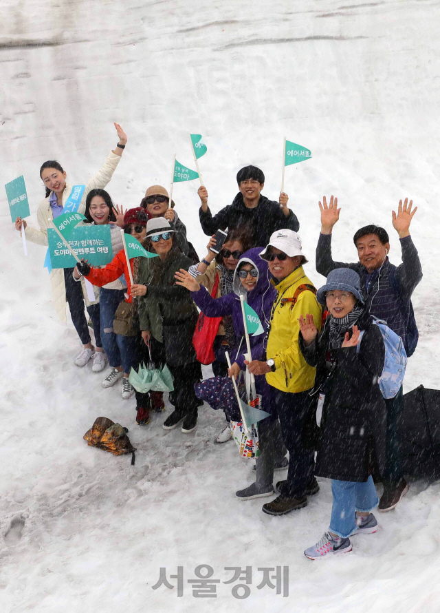
M358 530L356 511L369 513L379 504L371 475L364 483L331 479L331 492L333 507L329 530L344 539Z

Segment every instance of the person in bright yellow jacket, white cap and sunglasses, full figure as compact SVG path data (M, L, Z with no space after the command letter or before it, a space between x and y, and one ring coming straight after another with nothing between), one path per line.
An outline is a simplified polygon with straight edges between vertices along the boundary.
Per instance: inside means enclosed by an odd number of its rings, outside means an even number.
M289 450L287 480L276 484L280 495L263 505L263 511L269 515L284 515L305 507L307 495L319 490L314 478L314 452L303 444L315 368L307 364L300 351L298 318L311 313L320 330L322 309L316 300L316 289L305 275L303 264L307 260L296 232L287 229L274 232L260 256L269 263L277 295L268 323L267 362L254 360L248 367L254 375L266 375L272 388L272 406L278 412L283 440Z

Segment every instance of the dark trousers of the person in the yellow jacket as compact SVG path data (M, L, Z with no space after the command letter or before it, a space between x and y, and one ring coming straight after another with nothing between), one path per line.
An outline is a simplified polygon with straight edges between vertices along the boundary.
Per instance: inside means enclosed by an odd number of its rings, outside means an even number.
M289 451L287 486L283 490L289 498L305 497L307 485L314 478L314 451L306 449L303 441L304 426L311 410L309 391L289 393L273 388L281 434Z

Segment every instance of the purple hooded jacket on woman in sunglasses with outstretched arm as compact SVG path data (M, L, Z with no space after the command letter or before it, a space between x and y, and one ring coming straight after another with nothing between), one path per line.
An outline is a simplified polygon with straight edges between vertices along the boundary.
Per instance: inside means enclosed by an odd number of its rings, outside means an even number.
M270 320L270 313L272 311L272 304L274 304L276 289L272 283L269 282L270 273L267 269L267 262L262 260L259 256L259 253L261 253L263 249L264 247L254 247L254 249L249 249L249 251L243 253L243 256L241 256L239 264L237 264L234 272L233 293L228 293L225 296L221 296L221 298L212 298L210 293L204 287L201 287L199 291L191 292L192 300L194 300L199 309L208 317L223 317L224 315L232 315L232 322L234 324L234 333L237 343L229 353L232 364L236 362L239 364L242 370L245 370L245 357L243 353L246 352L246 343L244 338L245 329L243 324L243 315L241 313L241 302L239 298L240 294L244 295L245 301L248 302L249 306L252 306L252 309L254 309L256 314L259 316L264 330L264 333L259 334L258 336L250 335L252 360L265 360L263 340L265 338L267 325ZM256 286L249 292L245 290L241 284L237 273L241 262L252 264L252 266L259 271ZM243 342L241 343L240 353L238 356L236 356L241 339L243 339ZM257 387L259 380L265 380L265 377L256 377Z

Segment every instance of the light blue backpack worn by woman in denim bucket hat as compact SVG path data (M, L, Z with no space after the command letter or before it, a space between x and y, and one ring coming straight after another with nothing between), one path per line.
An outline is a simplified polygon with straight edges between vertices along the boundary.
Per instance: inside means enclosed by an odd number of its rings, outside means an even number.
M394 398L404 382L406 364L408 362L404 343L399 335L393 332L391 328L388 328L386 322L378 320L374 315L371 315L371 317L373 318L373 324L380 329L385 344L384 370L379 380L380 391L384 398ZM364 330L360 332L361 340L363 335ZM357 346L358 353L359 348L360 342Z

